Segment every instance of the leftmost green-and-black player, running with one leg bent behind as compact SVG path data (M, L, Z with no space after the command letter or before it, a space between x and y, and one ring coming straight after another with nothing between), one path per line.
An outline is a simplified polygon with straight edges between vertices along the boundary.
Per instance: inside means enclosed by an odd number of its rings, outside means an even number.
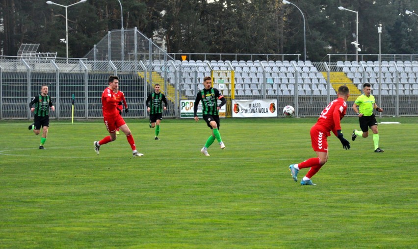
M35 107L33 107L33 104L35 104ZM44 144L47 140L48 127L50 126L50 107L52 111L55 111L55 106L53 106L51 97L48 95L48 86L42 85L41 94L33 98L29 103L30 111L35 114L35 122L29 125L28 129L33 130L35 135L39 135L42 127L42 137L39 149L45 149Z

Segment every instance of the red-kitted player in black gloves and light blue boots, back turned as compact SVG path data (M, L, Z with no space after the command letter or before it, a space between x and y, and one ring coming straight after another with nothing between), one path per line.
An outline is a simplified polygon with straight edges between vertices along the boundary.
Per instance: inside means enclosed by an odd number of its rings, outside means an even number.
M313 184L311 178L316 174L322 165L328 161L328 143L327 137L331 136L332 131L341 141L342 148L350 149L350 143L342 136L340 120L347 111L347 101L350 96L350 90L347 86L340 86L337 93L338 98L333 100L325 107L318 118L318 121L311 128L312 148L317 157L309 158L298 164L291 164L289 170L292 173L293 180L297 181L297 174L303 168L311 168L300 181L301 185Z

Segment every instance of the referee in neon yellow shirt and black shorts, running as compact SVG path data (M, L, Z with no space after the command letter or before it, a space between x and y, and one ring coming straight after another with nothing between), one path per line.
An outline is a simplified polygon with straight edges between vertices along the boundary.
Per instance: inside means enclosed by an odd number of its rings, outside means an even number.
M379 133L377 131L376 116L373 110L383 112L383 109L378 107L374 96L370 94L370 84L363 85L363 94L360 95L353 104L353 110L359 116L360 128L362 131L353 130L351 139L354 141L357 136L368 137L368 127L373 131L374 152L383 152L385 150L379 148ZM360 107L360 109L357 109Z

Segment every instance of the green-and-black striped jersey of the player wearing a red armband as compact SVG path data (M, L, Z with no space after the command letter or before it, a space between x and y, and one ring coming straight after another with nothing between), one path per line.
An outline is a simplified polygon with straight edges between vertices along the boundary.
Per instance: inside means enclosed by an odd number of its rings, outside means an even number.
M197 92L196 100L194 101L194 116L197 116L197 106L202 101L202 115L219 115L218 112L218 100L222 102L219 107L226 103L224 96L216 88L203 89Z

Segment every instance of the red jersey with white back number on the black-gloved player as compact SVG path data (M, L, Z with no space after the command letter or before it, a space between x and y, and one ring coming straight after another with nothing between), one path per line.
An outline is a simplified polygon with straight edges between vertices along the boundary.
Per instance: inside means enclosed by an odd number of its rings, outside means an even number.
M337 133L337 130L341 129L340 120L344 117L347 111L347 104L342 98L331 101L321 112L321 115L316 122L317 125L322 125L328 129L328 131L333 131L334 134Z

